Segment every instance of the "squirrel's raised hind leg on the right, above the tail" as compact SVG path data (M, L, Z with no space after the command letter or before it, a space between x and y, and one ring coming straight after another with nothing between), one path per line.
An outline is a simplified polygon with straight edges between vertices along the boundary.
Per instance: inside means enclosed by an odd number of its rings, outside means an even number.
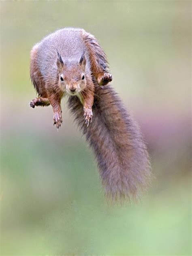
M83 39L90 56L92 75L94 75L99 85L106 85L113 79L113 76L107 70L109 68L107 56L92 34L85 32Z

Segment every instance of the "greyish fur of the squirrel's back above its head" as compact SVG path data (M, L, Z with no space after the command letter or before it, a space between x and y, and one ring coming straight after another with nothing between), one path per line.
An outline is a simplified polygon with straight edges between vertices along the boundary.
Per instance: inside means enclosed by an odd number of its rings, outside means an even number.
M64 28L49 34L43 40L36 44L37 63L44 79L55 77L57 74L57 51L62 60L80 60L85 43L83 42L83 33L85 30L80 28ZM33 48L33 49L34 49ZM87 68L90 68L89 56L85 52L87 59Z

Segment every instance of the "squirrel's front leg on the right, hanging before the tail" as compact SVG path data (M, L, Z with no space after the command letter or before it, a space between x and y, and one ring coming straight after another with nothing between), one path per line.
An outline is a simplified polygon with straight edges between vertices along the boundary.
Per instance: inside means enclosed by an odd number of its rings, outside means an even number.
M81 97L80 97L81 103L83 104L83 110L84 110L84 118L85 119L85 124L87 126L89 125L89 122L92 122L92 106L94 102L94 84L90 78L87 79L87 86L86 89L81 92Z

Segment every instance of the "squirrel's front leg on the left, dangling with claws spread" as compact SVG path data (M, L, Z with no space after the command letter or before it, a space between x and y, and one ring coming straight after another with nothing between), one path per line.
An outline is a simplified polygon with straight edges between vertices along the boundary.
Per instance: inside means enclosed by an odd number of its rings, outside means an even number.
M62 94L63 96L63 94ZM49 102L53 108L53 126L56 124L56 128L59 128L62 124L62 110L61 110L61 98L55 97L55 95L49 97Z

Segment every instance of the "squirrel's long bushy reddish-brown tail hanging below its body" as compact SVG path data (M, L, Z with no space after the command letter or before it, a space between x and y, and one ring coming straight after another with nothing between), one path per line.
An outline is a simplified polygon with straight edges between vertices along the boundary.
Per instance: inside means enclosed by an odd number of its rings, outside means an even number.
M88 127L79 99L70 97L68 104L94 151L106 196L138 198L150 180L149 156L137 124L111 85L95 85L93 121Z

